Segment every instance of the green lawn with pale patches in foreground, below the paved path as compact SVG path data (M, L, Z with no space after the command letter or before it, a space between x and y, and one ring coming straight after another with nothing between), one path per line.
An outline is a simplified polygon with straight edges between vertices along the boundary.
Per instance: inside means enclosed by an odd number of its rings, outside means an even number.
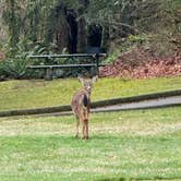
M0 180L181 180L181 107L74 117L1 118Z

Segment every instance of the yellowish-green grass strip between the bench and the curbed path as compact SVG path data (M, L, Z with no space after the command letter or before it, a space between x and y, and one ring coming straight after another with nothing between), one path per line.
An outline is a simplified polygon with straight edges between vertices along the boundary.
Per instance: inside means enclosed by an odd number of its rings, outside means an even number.
M70 105L81 87L77 80L7 81L0 83L0 111ZM92 99L136 96L181 88L181 76L152 80L100 79Z

